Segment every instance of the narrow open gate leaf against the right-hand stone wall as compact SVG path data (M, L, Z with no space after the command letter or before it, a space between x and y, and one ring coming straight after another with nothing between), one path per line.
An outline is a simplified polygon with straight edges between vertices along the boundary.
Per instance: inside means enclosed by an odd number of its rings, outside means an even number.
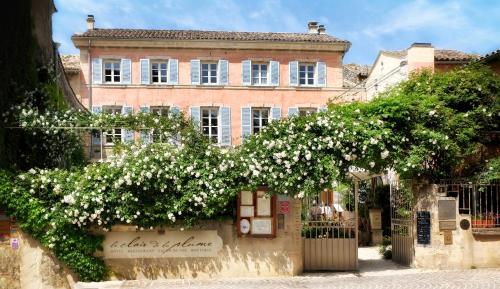
M405 266L410 266L415 256L413 200L410 181L391 181L392 260Z

